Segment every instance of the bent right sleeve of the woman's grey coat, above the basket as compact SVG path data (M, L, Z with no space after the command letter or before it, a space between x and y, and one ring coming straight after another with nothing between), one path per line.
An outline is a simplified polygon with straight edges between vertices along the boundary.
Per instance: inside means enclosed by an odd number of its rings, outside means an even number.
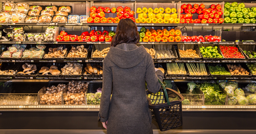
M146 82L147 88L152 93L157 93L161 88L161 84L158 82L158 78L163 81L164 74L158 70L155 71L154 61L151 57L147 56L147 66L146 66Z

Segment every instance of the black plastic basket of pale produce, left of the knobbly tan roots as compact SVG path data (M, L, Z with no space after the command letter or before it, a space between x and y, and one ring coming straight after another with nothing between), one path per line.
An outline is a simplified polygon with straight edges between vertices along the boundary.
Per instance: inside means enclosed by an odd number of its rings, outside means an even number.
M156 51L156 58L157 52L160 54L161 51L166 51L173 56L173 58L157 58L158 60L176 60L178 58L176 49L173 44L157 44L154 46Z

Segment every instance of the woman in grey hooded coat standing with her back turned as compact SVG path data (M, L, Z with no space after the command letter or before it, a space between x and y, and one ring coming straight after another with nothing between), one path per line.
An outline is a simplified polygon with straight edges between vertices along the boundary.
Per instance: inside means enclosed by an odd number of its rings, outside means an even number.
M157 93L158 77L163 80L164 74L154 67L144 46L136 45L139 40L136 24L121 19L103 61L99 121L107 134L153 134L145 80L148 90Z

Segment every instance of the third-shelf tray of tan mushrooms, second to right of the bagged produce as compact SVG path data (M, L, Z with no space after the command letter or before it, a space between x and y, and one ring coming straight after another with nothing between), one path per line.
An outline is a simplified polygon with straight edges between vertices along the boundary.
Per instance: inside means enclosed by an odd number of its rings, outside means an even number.
M88 48L85 48L84 45L73 45L71 46L71 49L69 50L69 53L66 56L66 59L81 60L81 59L87 58L87 54L88 54Z

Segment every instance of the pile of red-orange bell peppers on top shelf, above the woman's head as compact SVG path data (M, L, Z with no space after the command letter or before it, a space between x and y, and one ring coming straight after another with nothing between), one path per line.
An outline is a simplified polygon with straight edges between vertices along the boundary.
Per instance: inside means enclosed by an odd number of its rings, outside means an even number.
M90 8L90 17L87 18L88 23L118 23L120 19L130 18L135 22L134 11L130 7L98 7L92 6ZM116 17L105 17L105 13L116 13Z

